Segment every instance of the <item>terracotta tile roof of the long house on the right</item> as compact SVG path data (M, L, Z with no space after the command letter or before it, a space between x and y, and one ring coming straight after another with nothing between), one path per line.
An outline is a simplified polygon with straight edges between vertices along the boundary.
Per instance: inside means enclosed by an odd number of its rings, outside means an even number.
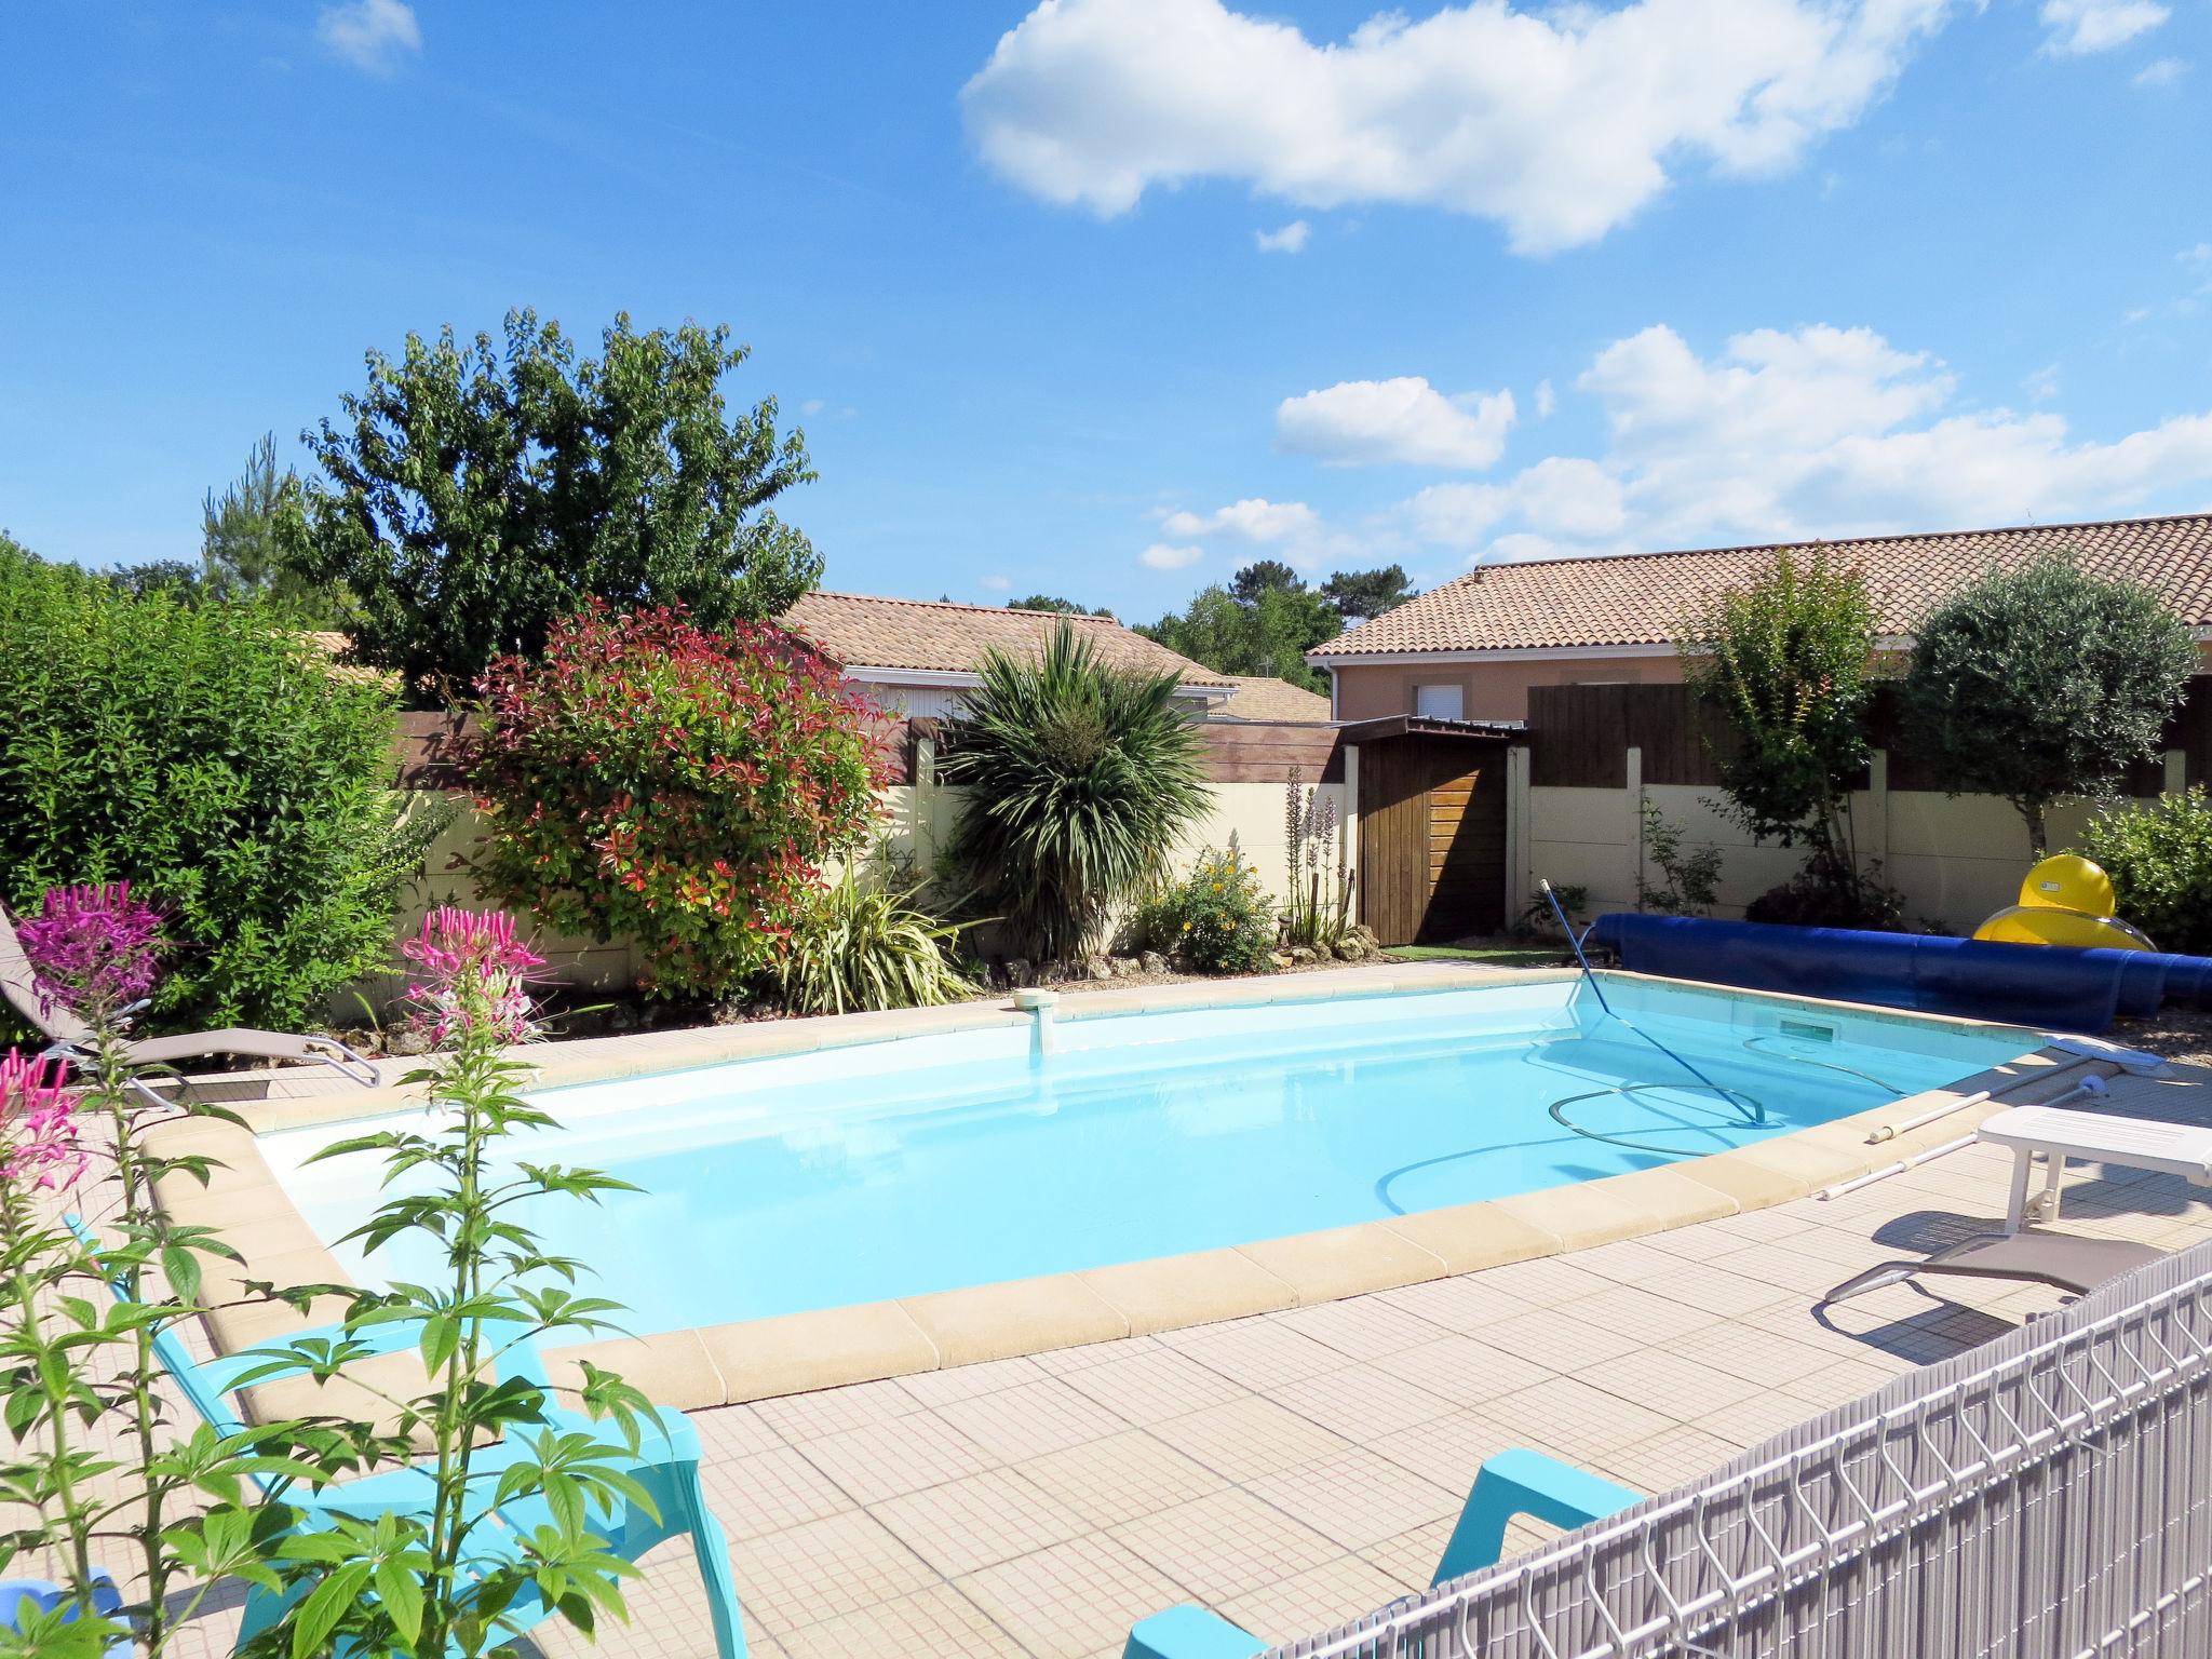
M1307 655L1668 644L1683 611L1767 568L1781 546L1807 544L1489 564ZM1993 564L2053 551L2075 553L2099 575L2146 584L2192 626L2212 624L2212 513L1874 535L1825 546L1865 571L1885 635L1909 635L1938 599Z

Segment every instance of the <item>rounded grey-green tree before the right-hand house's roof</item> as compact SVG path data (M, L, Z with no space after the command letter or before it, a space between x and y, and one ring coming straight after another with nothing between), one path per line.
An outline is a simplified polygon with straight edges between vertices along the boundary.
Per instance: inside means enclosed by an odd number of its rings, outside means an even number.
M2051 555L1936 608L1905 710L1951 792L2002 794L2042 858L2051 803L2110 794L2157 754L2194 670L2190 630L2159 595Z

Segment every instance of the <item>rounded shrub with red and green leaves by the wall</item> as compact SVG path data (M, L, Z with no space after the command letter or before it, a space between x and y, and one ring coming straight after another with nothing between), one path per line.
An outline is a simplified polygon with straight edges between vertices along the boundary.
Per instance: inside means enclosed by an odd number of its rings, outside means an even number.
M635 940L650 991L719 995L774 967L823 860L874 827L880 714L781 628L593 602L478 690L478 887Z

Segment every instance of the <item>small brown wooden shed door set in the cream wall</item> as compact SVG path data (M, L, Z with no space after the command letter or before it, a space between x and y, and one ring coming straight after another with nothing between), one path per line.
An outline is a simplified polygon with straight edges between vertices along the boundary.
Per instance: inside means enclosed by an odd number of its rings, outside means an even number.
M1385 945L1506 922L1506 739L1402 732L1360 741L1360 916Z

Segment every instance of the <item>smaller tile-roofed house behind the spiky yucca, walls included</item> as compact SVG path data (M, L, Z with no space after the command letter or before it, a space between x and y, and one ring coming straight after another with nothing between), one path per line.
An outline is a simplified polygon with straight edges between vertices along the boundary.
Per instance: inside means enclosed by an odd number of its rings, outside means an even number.
M951 599L885 599L872 593L810 593L779 622L812 639L845 670L845 679L865 686L885 708L905 714L958 714L962 695L980 677L987 650L1035 657L1062 622L1117 668L1175 675L1177 697L1194 714L1223 710L1239 697L1230 675L1201 668L1113 617L1011 611Z

